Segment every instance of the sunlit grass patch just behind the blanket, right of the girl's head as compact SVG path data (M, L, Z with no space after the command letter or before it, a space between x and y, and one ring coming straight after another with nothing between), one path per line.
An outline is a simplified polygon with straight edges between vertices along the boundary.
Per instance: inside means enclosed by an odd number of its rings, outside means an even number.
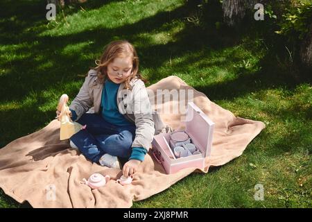
M172 55L164 62L164 66L159 67L159 72L171 73L186 80L193 87L198 87L226 83L242 74L252 74L259 69L259 59L252 58L252 53L246 52L243 45L219 51L206 47L196 53L185 53L184 56ZM243 60L248 61L245 66L236 67L237 61Z

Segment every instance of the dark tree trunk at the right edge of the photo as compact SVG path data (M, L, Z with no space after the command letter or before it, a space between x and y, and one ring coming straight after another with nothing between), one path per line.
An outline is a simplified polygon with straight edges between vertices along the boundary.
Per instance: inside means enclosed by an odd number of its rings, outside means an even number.
M312 24L300 47L300 60L305 68L312 70Z

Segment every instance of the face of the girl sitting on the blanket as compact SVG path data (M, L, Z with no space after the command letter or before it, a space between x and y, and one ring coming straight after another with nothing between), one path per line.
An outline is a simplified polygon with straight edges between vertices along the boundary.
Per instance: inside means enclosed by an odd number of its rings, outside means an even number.
M123 83L132 74L132 59L130 57L114 58L107 65L107 76L114 83Z

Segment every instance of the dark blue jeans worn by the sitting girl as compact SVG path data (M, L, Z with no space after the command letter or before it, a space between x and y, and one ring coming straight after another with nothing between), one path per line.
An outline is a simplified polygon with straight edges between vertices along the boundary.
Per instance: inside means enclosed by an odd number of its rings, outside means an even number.
M71 136L71 141L88 160L98 163L102 155L108 153L129 158L131 145L135 139L135 124L115 126L108 123L100 114L83 114L77 123L87 127Z

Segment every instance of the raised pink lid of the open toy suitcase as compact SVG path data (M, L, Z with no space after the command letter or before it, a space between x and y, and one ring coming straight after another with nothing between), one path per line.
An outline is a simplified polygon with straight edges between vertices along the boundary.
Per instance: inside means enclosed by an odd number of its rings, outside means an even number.
M210 155L214 122L193 102L187 104L185 131L192 138L193 144L202 151L205 157Z

